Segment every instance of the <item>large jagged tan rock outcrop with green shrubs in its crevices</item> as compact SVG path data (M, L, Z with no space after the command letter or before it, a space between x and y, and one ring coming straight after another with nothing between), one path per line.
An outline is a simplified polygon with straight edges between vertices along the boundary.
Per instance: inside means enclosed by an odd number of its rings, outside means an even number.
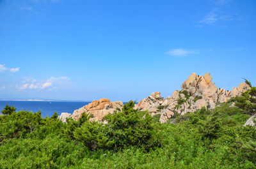
M164 99L161 98L160 92L152 93L148 98L141 100L136 108L140 111L148 110L153 116L161 114L159 121L166 122L175 113L184 115L202 107L213 109L216 103L224 103L230 98L241 96L242 92L248 90L250 86L244 82L234 87L232 91L218 89L212 82L210 73L205 73L204 76L192 73L182 83L181 91L174 91L172 97L168 96ZM160 107L161 110L159 110Z

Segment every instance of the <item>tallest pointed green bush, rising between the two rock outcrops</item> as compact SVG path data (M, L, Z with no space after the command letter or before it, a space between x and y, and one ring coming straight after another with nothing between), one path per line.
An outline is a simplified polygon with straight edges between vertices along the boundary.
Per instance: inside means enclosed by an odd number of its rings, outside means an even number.
M109 138L113 138L113 149L122 147L141 147L145 150L158 145L152 117L148 113L144 118L138 115L138 110L134 110L135 102L129 101L124 105L122 112L107 115L105 133Z

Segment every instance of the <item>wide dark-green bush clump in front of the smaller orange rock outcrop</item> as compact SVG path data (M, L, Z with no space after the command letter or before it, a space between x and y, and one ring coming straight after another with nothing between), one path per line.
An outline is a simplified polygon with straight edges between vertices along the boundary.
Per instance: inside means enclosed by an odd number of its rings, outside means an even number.
M158 145L153 118L148 113L141 118L134 110L134 102L124 105L122 112L106 115L107 124L89 121L90 117L82 114L76 122L68 119L64 137L83 142L89 149L111 149L135 146L148 151Z

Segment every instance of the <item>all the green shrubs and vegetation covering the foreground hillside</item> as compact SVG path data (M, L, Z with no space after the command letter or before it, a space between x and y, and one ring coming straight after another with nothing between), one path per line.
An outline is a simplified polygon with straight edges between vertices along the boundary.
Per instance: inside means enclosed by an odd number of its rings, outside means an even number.
M256 130L243 126L255 114L255 96L252 87L214 110L164 124L134 110L133 101L105 116L106 124L87 114L63 123L56 113L42 118L6 105L0 168L256 168Z

